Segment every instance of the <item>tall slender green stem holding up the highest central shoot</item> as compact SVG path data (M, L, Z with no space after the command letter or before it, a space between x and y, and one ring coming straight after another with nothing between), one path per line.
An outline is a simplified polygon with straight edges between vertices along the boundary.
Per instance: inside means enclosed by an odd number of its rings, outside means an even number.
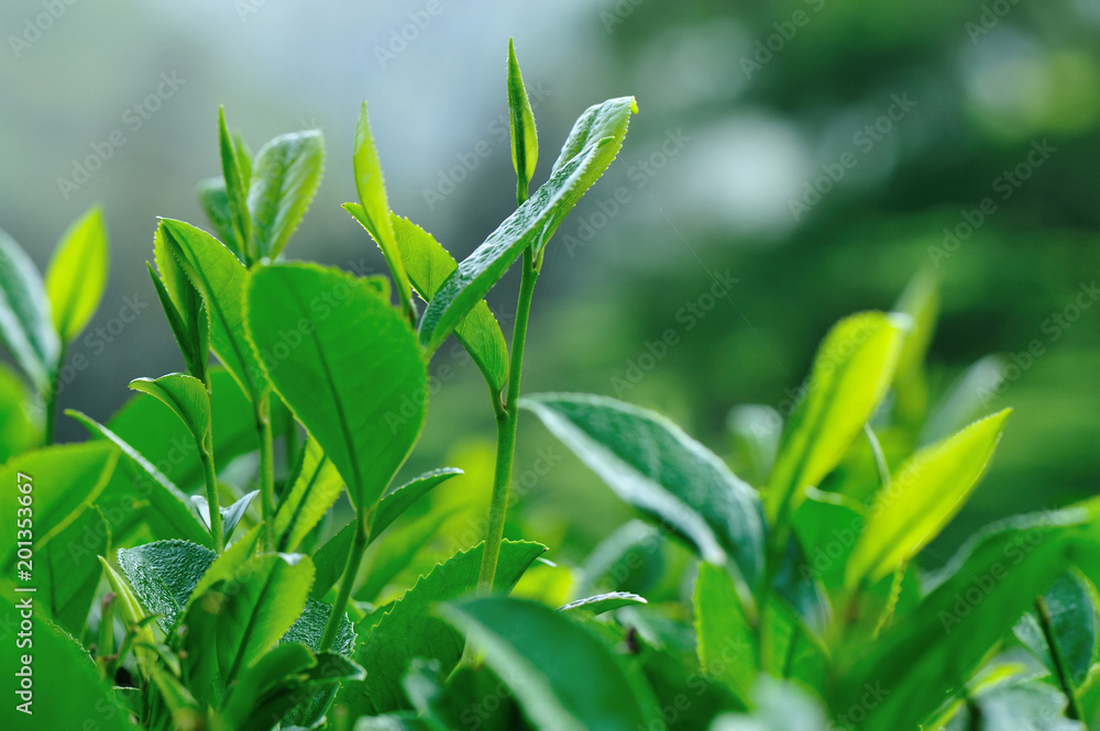
M482 554L481 574L477 589L491 594L496 579L496 564L501 557L501 541L504 540L504 521L508 512L508 488L512 484L512 464L516 456L516 424L519 409L519 380L524 370L524 347L527 342L527 320L531 313L531 298L539 278L535 254L530 248L524 252L524 272L519 285L519 302L516 306L516 325L512 336L512 362L508 367L508 395L503 408L496 414L496 473L493 477L493 497L490 502L488 530L485 534L485 552ZM495 405L494 405L495 406Z

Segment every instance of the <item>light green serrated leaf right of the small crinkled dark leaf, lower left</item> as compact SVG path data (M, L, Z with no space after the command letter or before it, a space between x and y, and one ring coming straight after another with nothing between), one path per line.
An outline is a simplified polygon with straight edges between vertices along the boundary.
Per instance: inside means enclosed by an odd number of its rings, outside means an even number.
M272 554L246 561L232 578L194 596L183 620L183 667L196 696L218 688L219 679L229 687L262 658L301 614L312 580L308 556Z

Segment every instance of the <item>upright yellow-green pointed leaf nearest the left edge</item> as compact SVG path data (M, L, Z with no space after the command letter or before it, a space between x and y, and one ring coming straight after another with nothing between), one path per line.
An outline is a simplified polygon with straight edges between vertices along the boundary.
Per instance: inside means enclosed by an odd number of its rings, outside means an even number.
M62 236L46 270L46 295L62 341L75 340L96 314L109 261L103 212L92 208Z

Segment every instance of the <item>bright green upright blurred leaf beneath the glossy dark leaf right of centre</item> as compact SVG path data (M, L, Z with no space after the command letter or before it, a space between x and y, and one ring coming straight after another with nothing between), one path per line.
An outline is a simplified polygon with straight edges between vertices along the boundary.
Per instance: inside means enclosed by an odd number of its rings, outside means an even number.
M760 674L759 642L737 586L721 566L700 564L695 634L698 662L706 674L725 683L741 702L749 705Z

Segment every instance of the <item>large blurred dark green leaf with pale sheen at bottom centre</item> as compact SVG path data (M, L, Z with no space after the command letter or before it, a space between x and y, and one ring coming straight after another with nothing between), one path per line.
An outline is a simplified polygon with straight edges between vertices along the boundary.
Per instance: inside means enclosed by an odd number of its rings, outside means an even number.
M637 731L656 720L641 679L561 612L505 598L448 603L439 612L466 633L537 729Z

